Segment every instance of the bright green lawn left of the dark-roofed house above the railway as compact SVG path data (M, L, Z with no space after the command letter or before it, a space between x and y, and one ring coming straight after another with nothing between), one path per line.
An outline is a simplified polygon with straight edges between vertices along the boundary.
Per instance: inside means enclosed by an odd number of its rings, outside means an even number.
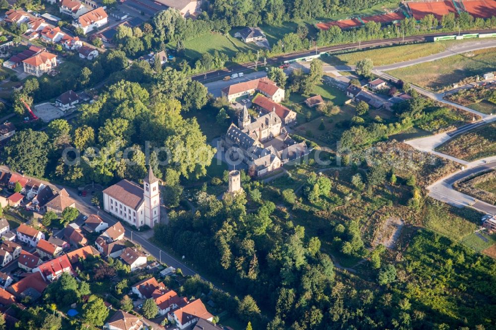
M224 36L213 32L189 39L185 42L185 48L185 56L191 60L201 57L203 53L213 54L214 51L232 57L238 52L248 52L249 50L256 52L257 49L260 49L253 43L245 44L231 35Z

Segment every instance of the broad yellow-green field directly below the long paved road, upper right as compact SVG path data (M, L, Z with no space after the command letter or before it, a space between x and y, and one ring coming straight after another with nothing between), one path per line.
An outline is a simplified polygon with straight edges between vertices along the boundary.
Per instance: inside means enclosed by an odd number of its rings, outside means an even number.
M496 66L495 49L440 58L388 71L392 76L437 92L467 77L482 75Z

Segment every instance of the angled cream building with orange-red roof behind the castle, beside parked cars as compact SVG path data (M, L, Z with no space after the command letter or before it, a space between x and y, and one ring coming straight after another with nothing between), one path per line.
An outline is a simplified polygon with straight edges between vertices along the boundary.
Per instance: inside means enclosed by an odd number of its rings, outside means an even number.
M268 78L254 79L233 84L222 89L221 95L222 97L227 98L229 102L232 102L239 97L252 95L255 92L261 93L277 103L284 101L284 89L278 87L275 82Z

